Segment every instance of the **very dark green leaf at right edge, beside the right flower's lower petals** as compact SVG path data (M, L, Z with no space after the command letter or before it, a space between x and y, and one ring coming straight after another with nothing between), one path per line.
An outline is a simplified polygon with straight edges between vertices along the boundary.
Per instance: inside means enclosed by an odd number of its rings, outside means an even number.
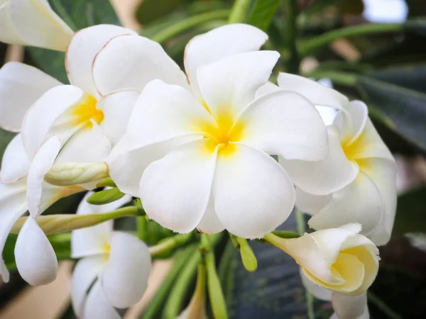
M426 188L415 189L398 198L392 235L426 233Z

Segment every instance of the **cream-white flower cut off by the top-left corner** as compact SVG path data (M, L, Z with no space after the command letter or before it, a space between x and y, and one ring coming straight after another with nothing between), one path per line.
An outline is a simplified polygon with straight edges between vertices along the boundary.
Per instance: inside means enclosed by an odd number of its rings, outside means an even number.
M65 51L73 33L48 0L0 0L0 42Z

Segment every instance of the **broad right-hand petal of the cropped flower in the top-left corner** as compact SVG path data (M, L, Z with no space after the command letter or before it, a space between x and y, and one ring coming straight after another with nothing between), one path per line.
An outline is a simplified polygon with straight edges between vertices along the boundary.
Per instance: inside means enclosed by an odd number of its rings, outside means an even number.
M65 51L72 30L50 8L48 0L11 0L11 21L19 37L29 45Z

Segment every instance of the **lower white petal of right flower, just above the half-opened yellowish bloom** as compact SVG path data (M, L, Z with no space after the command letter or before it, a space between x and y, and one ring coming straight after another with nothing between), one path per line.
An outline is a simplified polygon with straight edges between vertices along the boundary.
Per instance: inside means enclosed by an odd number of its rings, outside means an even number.
M383 202L376 184L359 172L351 184L333 194L332 201L309 220L309 225L318 230L360 223L361 233L368 236L381 223L383 213Z

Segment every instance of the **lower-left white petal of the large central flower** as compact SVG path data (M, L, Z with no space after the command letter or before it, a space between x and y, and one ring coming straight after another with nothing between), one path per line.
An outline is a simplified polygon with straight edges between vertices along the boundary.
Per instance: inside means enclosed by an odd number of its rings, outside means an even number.
M216 157L208 140L199 140L150 164L139 186L149 218L178 233L197 227L210 198Z

